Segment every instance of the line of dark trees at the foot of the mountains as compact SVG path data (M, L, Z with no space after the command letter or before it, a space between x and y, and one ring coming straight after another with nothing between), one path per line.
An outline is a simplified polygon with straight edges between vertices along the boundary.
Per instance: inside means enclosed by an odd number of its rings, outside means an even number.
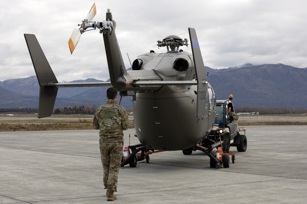
M83 106L68 106L62 108L53 108L52 114L89 114L93 115L98 107L93 104L85 104ZM279 107L279 106L265 106L265 107L250 107L250 106L234 106L236 113L252 113L258 112L260 115L274 115L274 114L304 114L307 113L306 108L292 108L292 107ZM127 113L133 112L132 109L127 109ZM35 114L38 113L38 108L0 108L2 114Z

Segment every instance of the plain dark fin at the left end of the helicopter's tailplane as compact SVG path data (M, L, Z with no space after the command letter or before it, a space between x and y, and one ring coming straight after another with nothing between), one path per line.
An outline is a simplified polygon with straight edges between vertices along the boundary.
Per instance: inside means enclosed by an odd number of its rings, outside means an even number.
M48 83L58 83L35 35L24 34L37 80L40 86L38 118L51 116L56 100L57 87L45 87Z

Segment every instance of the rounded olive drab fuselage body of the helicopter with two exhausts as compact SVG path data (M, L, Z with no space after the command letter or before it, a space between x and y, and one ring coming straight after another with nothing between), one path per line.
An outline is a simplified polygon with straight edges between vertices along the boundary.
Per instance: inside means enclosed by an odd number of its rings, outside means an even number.
M175 68L178 59L185 61L186 66L179 71ZM152 52L139 56L137 60L142 61L139 70L153 69L162 80L195 80L192 54L188 52ZM133 75L133 71L128 73ZM207 113L201 120L196 117L198 95L195 85L163 86L155 92L137 93L133 101L133 112L139 141L154 150L184 150L195 146L214 123L215 96L210 85L208 89L207 102L204 103ZM211 107L208 105L209 98Z

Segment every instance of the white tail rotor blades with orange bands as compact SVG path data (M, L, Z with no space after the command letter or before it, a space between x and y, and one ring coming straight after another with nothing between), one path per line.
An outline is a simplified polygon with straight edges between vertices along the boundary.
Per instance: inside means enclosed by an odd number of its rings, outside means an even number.
M70 36L69 40L68 40L68 46L69 46L69 50L70 53L72 54L72 52L75 50L75 47L77 46L77 43L79 42L79 39L81 37L81 34L89 27L92 26L91 21L93 20L93 18L96 15L96 5L95 3L93 4L92 8L90 9L90 11L87 14L87 17L82 21L82 24L78 24L81 27L78 28L74 28L72 35Z

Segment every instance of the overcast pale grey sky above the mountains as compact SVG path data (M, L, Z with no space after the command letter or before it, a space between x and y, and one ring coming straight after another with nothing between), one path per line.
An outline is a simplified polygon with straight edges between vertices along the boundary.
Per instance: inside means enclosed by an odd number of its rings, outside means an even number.
M82 34L73 54L68 39L87 16L94 1L2 1L0 16L0 80L34 76L24 33L35 34L58 81L109 79L103 36ZM307 1L198 0L96 1L94 21L107 8L116 21L116 35L126 69L140 54L158 50L168 35L189 39L195 28L204 65L213 69L278 64L307 67ZM184 51L191 52L182 47Z

